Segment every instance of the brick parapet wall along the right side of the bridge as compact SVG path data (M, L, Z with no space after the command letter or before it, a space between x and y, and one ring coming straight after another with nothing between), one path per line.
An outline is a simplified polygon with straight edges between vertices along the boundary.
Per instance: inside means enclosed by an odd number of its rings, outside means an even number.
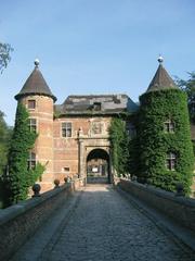
M122 178L116 186L195 232L195 199Z

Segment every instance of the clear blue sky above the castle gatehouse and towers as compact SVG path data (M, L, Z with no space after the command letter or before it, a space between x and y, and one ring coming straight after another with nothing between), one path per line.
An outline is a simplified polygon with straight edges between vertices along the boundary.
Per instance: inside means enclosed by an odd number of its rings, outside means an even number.
M100 94L136 102L159 53L172 77L195 71L194 0L0 0L0 41L14 48L0 74L9 125L36 58L56 104L68 95Z

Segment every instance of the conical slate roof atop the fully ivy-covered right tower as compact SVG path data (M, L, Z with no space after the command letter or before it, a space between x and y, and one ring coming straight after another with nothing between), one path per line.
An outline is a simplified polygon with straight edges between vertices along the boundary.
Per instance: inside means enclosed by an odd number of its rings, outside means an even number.
M164 89L176 89L178 86L169 76L165 67L159 64L154 78L152 79L146 92Z

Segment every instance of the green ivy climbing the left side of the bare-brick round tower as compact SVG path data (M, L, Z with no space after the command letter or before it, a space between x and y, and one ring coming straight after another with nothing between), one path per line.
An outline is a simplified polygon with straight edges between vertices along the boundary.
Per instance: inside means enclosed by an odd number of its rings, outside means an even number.
M29 151L36 138L37 134L30 132L28 127L28 112L22 103L18 103L9 151L9 175L4 178L6 206L26 199L28 188L43 172L43 166L40 164L35 170L27 170Z

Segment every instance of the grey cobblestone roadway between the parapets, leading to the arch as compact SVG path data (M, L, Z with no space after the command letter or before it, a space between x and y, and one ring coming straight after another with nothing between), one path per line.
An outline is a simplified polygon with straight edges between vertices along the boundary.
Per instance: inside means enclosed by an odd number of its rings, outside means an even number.
M41 228L46 233L35 235L12 260L195 260L188 249L164 234L112 186L87 186L75 199L66 219L63 219L63 210L61 212L58 221L53 216L53 224ZM49 235L48 240L47 233L52 226L55 233Z

